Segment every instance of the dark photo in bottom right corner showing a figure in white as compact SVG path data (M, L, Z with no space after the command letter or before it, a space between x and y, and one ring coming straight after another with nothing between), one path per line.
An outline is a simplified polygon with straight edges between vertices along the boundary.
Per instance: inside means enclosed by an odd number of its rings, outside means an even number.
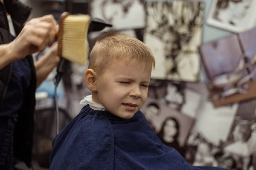
M230 159L236 170L256 169L256 100L241 102L218 159Z

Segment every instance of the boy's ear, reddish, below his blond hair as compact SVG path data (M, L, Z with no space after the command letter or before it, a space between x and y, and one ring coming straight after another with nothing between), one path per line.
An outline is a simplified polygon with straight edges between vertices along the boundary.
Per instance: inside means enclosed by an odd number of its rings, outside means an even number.
M97 91L96 86L96 73L93 69L87 69L84 74L84 80L90 91Z

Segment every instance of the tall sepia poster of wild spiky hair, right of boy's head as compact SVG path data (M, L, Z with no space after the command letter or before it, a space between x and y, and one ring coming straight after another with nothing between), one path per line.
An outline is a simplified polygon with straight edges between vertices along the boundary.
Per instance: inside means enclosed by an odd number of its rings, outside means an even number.
M144 43L156 59L154 79L198 81L204 2L148 1Z

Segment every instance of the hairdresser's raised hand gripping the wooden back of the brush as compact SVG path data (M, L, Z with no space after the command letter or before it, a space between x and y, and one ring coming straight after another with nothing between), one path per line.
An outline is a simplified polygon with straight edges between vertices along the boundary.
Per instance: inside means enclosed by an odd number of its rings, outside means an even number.
M56 41L58 24L52 15L34 18L26 23L17 38L9 44L15 60L28 54L44 51Z

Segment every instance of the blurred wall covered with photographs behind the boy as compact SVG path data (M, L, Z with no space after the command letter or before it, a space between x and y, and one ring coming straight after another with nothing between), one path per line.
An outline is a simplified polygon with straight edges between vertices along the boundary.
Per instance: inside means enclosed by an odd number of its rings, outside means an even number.
M142 111L164 144L193 165L256 170L256 0L90 0L87 7L84 14L113 24L88 34L90 49L107 31L151 48L156 69ZM87 67L70 63L58 88L62 127L90 95ZM38 88L41 122L54 113L54 75Z

